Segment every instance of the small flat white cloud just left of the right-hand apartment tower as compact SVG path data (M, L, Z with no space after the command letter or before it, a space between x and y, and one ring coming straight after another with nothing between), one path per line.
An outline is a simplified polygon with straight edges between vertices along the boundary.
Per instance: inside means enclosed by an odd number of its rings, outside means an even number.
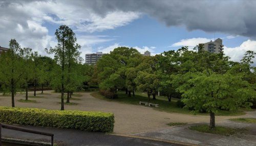
M197 46L199 43L206 43L209 42L210 39L208 38L188 38L188 39L182 39L179 42L176 42L174 44L172 44L171 46L168 47L176 47L176 46L188 46L188 47L195 47Z

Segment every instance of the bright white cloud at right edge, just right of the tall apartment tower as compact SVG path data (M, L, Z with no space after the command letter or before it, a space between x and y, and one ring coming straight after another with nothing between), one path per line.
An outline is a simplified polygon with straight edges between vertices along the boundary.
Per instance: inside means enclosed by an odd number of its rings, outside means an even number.
M256 52L256 41L247 40L244 41L240 46L237 47L226 47L224 46L224 54L229 56L232 61L238 61L243 58L246 51ZM253 59L254 66L256 65L256 58Z

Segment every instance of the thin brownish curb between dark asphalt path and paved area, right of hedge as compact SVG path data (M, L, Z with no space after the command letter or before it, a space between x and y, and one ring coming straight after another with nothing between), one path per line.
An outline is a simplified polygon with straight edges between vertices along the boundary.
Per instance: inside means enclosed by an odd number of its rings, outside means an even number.
M151 138L151 137L144 137L144 136L135 136L135 135L126 135L126 134L110 134L116 136L123 136L123 137L131 137L131 138L139 138L139 139L147 139L147 140L154 140L160 142L167 142L167 143L174 143L174 144L181 144L186 146L198 146L198 144L182 142L182 141L175 141L175 140L166 140L166 139L158 139L158 138Z

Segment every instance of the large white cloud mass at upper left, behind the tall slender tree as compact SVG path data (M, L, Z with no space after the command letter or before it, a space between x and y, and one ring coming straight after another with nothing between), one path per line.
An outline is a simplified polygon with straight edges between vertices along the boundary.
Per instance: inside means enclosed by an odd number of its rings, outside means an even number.
M22 47L31 47L41 55L46 55L44 48L56 45L45 22L68 25L74 31L95 32L125 26L140 16L121 10L100 15L78 1L6 1L0 6L0 45L8 47L9 40L15 38ZM83 54L91 53L92 45L111 40L113 37L77 36Z

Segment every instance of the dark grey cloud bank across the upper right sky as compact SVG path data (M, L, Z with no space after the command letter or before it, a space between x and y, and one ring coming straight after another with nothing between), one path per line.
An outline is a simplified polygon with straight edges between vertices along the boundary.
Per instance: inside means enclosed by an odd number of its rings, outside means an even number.
M256 38L256 1L102 0L86 4L101 15L117 10L137 11L164 22L166 26Z

